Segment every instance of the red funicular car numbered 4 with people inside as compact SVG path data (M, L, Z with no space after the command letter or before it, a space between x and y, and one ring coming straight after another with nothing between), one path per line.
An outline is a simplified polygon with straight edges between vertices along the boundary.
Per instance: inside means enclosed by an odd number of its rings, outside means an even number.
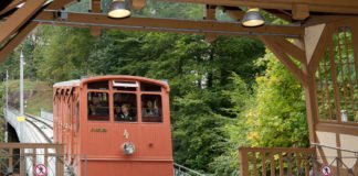
M173 174L165 81L98 76L53 87L54 142L75 175Z

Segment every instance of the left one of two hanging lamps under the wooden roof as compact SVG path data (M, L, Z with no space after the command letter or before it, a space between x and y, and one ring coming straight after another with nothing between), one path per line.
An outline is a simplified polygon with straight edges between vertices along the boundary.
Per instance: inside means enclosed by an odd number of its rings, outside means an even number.
M124 19L131 14L130 0L113 0L109 7L108 16Z

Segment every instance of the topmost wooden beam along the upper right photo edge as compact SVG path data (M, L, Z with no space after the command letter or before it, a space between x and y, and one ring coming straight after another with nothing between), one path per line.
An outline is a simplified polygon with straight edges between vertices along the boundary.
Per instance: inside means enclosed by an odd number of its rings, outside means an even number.
M256 7L261 9L294 10L307 6L310 12L358 14L357 0L161 0L169 2L202 3L221 7Z

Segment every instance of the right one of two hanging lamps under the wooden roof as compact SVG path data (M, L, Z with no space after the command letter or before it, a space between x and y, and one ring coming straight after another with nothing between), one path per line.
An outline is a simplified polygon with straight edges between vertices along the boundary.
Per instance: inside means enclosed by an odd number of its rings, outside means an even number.
M242 19L244 26L260 26L265 23L264 18L260 14L259 8L249 9Z

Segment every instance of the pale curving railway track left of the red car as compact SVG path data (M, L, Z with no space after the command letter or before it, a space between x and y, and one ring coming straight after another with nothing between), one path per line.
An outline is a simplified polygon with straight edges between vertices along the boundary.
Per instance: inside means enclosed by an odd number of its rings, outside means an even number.
M48 143L52 143L52 136L49 136L49 134L46 134L44 131L45 130L53 131L53 127L50 125L44 120L41 120L41 119L33 117L31 114L25 114L25 117L27 117L27 122L32 124L43 135L43 138L46 140Z

